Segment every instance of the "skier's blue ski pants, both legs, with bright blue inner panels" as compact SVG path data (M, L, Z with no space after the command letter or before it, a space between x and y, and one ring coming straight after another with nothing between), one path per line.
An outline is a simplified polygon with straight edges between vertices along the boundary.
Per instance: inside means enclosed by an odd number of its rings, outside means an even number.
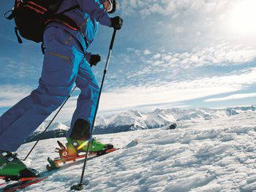
M61 106L74 84L80 88L80 95L68 134L78 118L92 124L99 85L79 42L64 29L50 26L45 29L44 43L45 56L38 88L0 118L0 150L17 150L29 134Z

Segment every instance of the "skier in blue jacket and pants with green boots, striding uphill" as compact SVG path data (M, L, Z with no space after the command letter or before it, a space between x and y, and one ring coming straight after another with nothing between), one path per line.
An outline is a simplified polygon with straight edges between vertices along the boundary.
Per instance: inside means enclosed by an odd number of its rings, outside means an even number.
M85 151L88 141L92 142L90 151L110 147L90 135L99 94L90 65L97 65L100 56L86 50L97 34L98 23L119 30L123 20L108 15L115 12L116 0L63 0L58 12L77 4L79 8L64 15L75 21L80 30L61 20L50 20L43 34L45 56L38 88L0 118L0 176L33 176L12 152L64 102L74 83L81 92L67 134L67 156Z

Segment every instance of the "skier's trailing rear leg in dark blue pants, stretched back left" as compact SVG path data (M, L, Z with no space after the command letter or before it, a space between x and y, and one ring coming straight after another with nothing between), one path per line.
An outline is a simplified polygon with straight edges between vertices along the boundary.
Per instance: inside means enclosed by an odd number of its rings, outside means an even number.
M39 86L0 118L0 150L15 151L69 95L83 54L61 28L45 30L45 58Z

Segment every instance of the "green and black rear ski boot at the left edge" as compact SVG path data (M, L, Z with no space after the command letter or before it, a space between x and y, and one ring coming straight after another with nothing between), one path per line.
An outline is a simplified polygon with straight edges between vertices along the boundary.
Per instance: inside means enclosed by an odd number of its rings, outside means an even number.
M17 158L17 154L0 150L0 178L6 181L24 177L37 177L35 169L29 169Z

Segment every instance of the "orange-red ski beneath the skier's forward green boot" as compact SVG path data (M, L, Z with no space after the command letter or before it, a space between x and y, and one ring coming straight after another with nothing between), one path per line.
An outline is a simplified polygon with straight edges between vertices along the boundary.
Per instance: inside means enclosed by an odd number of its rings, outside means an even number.
M118 150L118 149L112 148L112 149L109 149L109 150L91 152L91 153L88 154L88 157L97 158L101 155L105 155L105 154L111 153L111 152L116 151L116 150ZM51 170L54 170L54 169L59 169L61 167L60 164L66 164L66 162L69 162L69 161L75 162L78 159L85 158L85 157L86 157L86 154L71 156L71 157L66 157L66 158L54 158L54 160L52 160L51 158L48 157L47 161L49 162L49 164L46 165L46 169L48 171L51 171Z

